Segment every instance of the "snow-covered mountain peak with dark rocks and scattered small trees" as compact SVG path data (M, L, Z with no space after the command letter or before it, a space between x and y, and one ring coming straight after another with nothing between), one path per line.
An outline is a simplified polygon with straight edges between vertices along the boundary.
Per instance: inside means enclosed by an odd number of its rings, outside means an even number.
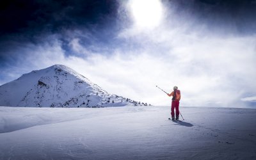
M109 94L64 65L34 70L0 86L0 106L77 108L143 104Z

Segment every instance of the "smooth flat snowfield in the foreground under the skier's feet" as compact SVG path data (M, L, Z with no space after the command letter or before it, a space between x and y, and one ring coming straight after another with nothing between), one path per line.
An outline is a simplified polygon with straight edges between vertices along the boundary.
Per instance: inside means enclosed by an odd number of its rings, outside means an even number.
M256 109L0 107L0 159L256 159Z

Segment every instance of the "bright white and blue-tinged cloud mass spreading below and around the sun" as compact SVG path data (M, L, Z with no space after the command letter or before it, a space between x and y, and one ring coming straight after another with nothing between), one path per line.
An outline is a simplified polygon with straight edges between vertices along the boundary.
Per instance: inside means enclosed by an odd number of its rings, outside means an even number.
M110 93L154 105L171 104L156 85L169 93L177 85L181 106L242 107L243 97L256 95L255 35L211 31L186 13L177 14L172 3L163 5L159 26L141 29L133 25L126 4L118 8L120 22L114 36L76 28L64 29L64 40L54 34L36 44L20 42L10 51L17 63L0 71L5 77L1 84L61 63ZM95 32L104 35L106 44Z

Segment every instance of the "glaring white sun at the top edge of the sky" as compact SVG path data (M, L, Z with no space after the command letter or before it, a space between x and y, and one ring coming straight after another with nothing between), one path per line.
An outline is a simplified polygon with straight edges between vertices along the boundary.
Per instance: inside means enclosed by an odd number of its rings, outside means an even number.
M140 28L155 28L163 17L161 0L130 0L132 18Z

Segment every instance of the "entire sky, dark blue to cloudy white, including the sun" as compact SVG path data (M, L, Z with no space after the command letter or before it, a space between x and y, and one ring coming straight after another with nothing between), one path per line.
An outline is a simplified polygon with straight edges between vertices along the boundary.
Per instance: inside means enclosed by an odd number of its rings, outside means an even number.
M62 64L156 106L256 108L256 0L0 2L0 85Z

